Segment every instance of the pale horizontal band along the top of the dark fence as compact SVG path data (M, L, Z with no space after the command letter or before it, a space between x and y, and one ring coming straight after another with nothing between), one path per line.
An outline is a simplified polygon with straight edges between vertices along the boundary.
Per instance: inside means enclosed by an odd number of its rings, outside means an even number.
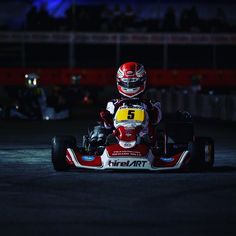
M232 44L236 34L196 33L96 33L96 32L4 32L0 43L86 43L86 44Z

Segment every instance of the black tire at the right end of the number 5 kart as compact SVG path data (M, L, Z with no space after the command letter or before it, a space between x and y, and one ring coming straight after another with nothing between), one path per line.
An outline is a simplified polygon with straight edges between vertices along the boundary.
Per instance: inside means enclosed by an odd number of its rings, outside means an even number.
M204 145L204 168L210 170L215 161L214 140L210 137L196 137L196 141Z

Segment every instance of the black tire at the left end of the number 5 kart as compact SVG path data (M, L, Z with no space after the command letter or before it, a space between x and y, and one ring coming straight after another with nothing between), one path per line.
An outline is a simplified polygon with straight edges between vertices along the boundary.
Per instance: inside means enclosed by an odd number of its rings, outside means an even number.
M52 163L56 171L69 169L66 162L66 149L75 148L76 139L73 136L55 136L52 139Z

